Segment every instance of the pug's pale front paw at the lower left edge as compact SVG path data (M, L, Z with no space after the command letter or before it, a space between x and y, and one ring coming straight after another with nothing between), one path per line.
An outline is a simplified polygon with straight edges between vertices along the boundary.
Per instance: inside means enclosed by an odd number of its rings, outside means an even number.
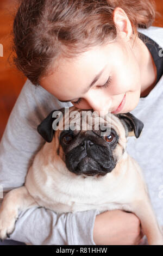
M0 211L0 239L3 241L10 237L10 234L15 229L15 222L17 220L17 212L16 211Z

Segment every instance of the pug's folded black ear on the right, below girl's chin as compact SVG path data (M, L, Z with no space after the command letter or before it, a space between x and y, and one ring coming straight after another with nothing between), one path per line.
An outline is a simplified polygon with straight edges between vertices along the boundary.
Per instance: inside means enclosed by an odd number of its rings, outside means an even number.
M144 126L142 121L134 117L134 115L129 112L124 114L117 114L117 116L122 121L122 124L126 124L128 129L128 136L133 136L134 131L135 137L139 138Z

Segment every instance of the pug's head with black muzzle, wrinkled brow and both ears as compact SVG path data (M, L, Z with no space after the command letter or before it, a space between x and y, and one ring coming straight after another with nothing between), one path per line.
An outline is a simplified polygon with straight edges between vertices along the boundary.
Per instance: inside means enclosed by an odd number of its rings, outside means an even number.
M83 113L89 113L89 118ZM62 108L52 111L37 127L47 142L55 140L54 154L76 175L111 172L124 154L127 137L138 138L143 129L143 123L130 113L105 115L98 118L99 122L93 113L92 109L87 112L73 106L65 114Z

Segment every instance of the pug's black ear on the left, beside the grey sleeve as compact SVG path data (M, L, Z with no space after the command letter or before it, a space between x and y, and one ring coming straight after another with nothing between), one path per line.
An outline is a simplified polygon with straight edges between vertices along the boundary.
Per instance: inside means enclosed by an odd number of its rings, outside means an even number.
M61 111L62 113L64 113L64 108L61 109L54 109L45 119L43 119L43 121L41 122L41 124L39 124L39 126L37 126L37 132L39 132L39 134L45 139L45 141L47 142L52 142L53 139L53 135L54 135L54 130L53 130L53 121L57 118L57 117L53 117L53 113L55 111Z

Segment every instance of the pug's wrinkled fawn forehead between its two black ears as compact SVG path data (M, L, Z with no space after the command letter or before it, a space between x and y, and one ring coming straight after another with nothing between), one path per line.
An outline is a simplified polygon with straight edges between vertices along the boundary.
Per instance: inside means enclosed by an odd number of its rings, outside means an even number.
M62 130L73 130L74 135L77 135L79 132L93 131L98 135L103 135L102 132L108 132L109 135L111 129L114 129L118 136L121 134L125 137L124 126L114 114L103 115L93 111L93 109L83 111L73 106L61 115L57 129L60 132ZM55 127L53 129L55 130Z

